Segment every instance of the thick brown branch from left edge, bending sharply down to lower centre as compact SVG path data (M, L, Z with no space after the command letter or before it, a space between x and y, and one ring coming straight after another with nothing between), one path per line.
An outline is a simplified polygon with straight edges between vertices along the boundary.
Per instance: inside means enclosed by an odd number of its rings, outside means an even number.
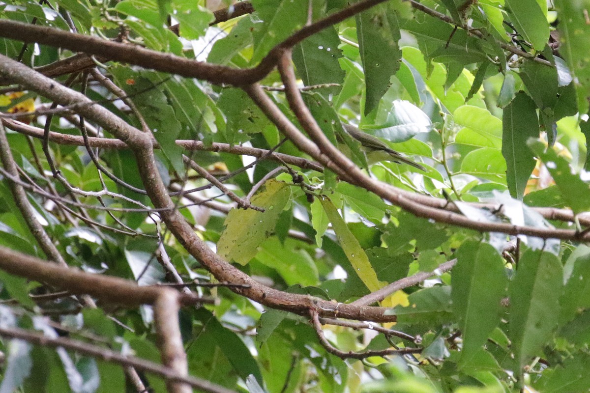
M0 76L13 83L22 84L28 89L36 91L60 104L76 103L78 113L95 121L115 137L126 142L127 146L135 154L143 185L148 191L153 205L157 209L162 209L160 210L160 217L166 223L168 230L219 281L244 285L239 288L231 288L232 291L247 296L265 306L300 315L307 315L309 309L314 307L321 310L322 316L340 316L363 321L395 322L395 315L385 315L385 309L381 307L358 307L334 303L313 296L282 292L256 282L213 252L207 243L195 234L182 214L175 209L175 203L171 200L168 190L159 175L151 137L125 123L121 118L100 107L100 105L94 104L83 94L57 84L50 78L2 55L0 55ZM0 267L2 266L0 265Z

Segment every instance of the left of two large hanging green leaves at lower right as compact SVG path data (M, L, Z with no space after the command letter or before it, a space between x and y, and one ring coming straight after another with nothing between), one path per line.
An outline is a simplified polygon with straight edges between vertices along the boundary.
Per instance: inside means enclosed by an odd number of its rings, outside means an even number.
M453 311L463 337L460 364L468 364L500 322L508 279L500 254L486 243L464 242L452 276Z

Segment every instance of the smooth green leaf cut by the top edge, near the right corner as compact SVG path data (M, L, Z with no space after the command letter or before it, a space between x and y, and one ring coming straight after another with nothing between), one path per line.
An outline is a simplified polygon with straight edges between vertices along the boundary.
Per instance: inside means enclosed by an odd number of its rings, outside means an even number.
M536 0L506 0L514 28L536 51L542 51L549 39L549 23Z

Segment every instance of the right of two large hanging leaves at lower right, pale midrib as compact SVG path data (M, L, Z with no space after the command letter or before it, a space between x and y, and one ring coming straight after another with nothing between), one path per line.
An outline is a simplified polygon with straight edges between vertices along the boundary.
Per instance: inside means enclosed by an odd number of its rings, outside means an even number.
M510 340L519 370L557 327L562 287L563 268L555 255L527 250L520 257L509 288Z

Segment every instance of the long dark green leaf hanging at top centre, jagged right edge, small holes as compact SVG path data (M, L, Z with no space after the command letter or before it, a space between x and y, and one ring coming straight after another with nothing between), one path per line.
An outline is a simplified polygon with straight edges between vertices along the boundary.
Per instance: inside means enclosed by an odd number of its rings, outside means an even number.
M386 6L375 6L356 15L356 34L360 59L365 69L365 115L379 104L389 89L391 77L399 70L402 52L401 38L395 12Z

